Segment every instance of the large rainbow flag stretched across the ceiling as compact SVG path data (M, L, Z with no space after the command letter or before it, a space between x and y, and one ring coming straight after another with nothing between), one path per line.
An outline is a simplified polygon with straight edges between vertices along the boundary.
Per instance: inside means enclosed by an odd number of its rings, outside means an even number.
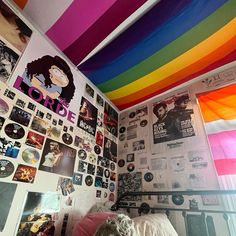
M156 4L78 68L120 109L236 59L235 0Z

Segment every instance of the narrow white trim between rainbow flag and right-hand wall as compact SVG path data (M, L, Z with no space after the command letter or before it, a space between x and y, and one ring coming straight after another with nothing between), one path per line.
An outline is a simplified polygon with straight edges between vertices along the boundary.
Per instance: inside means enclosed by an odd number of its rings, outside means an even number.
M129 111L129 110L131 110L131 109L135 109L136 107L140 107L140 106L142 106L142 105L144 105L144 104L146 104L146 103L149 103L149 102L151 102L151 101L154 101L154 100L157 99L158 97L161 97L161 96L163 96L163 95L169 94L169 93L174 92L174 91L177 91L177 90L182 89L182 88L184 88L184 87L190 86L190 85L192 85L192 84L194 84L194 83L196 83L196 82L199 82L199 81L202 80L202 79L205 79L205 78L207 78L207 77L213 76L213 75L215 75L215 74L218 74L218 73L220 73L220 72L222 72L222 71L225 71L225 70L227 70L227 69L231 69L231 68L234 68L234 67L236 68L236 61L233 61L233 62L230 62L230 63L228 63L228 64L225 64L225 65L223 65L223 66L221 66L221 67L218 67L218 68L216 68L216 69L214 69L214 70L211 70L211 71L209 71L209 72L207 72L207 73L205 73L205 74L202 74L202 75L200 75L200 76L198 76L198 77L196 77L196 78L193 78L193 79L191 79L191 80L189 80L189 81L187 81L187 82L185 82L185 83L183 83L183 84L180 84L180 85L178 85L178 86L176 86L176 87L174 87L174 88L172 88L172 89L169 89L169 90L167 90L167 91L165 91L165 92L163 92L163 93L160 93L160 94L158 94L158 95L156 95L156 96L154 96L154 97L151 97L151 98L149 98L149 99L147 99L147 100L145 100L145 101L143 101L143 102L140 102L140 103L138 103L138 104L136 104L136 105L133 105L133 106L131 106L131 107L128 107L128 108L126 108L126 109L120 111L119 114L122 114L123 112L127 112L127 111Z

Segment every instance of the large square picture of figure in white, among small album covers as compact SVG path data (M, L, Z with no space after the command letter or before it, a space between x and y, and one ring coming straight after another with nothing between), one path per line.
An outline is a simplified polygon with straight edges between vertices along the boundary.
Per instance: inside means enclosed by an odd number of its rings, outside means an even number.
M52 139L46 139L39 170L73 176L76 150Z

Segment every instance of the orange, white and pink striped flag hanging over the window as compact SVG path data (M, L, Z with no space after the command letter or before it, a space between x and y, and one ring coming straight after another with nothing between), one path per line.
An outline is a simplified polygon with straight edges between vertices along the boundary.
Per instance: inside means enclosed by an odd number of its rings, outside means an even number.
M236 174L236 84L198 96L218 175Z

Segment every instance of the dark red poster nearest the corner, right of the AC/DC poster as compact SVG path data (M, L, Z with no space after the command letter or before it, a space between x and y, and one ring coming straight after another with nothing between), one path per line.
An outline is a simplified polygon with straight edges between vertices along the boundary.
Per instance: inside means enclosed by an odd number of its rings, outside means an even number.
M118 135L118 113L105 102L104 127L113 135Z

